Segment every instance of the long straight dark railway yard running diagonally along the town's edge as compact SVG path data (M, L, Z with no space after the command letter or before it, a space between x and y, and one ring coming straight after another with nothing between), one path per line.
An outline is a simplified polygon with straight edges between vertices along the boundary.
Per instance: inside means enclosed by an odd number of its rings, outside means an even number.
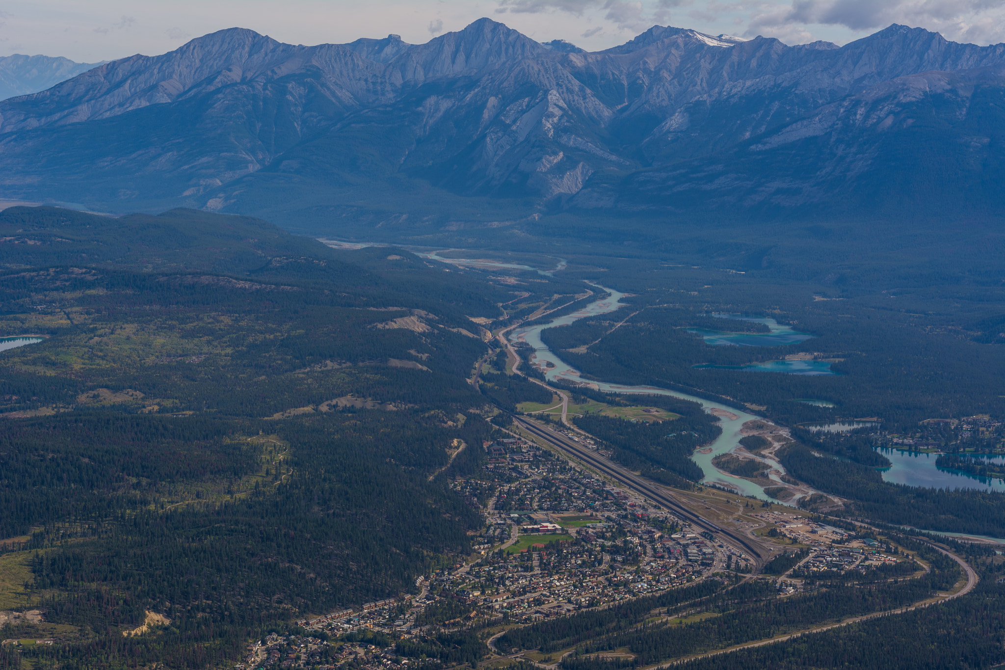
M731 543L739 545L737 548L743 547L743 549L745 549L752 555L752 557L754 559L754 563L757 566L757 571L760 571L761 568L766 563L765 557L761 554L761 552L758 551L756 548L754 548L754 546L752 546L750 542L748 542L744 537L734 533L731 530L722 528L716 523L710 521L709 519L703 518L698 514L695 514L691 510L681 505L675 499L673 499L673 497L670 496L668 493L660 490L657 486L651 484L647 480L636 475L634 472L631 472L629 470L626 470L625 468L615 465L614 463L611 463L606 458L593 453L589 449L584 448L583 446L577 444L573 440L567 439L564 435L543 428L538 424L534 423L533 421L529 421L519 416L514 416L514 421L517 422L517 424L519 424L522 428L524 428L532 435L540 437L541 439L547 441L552 446L561 449L567 454L574 456L578 460L590 465L591 467L596 468L600 472L603 472L612 479L621 482L622 484L628 486L637 493L641 493L642 495L650 498L651 500L658 502L667 509L672 510L681 518L693 523L699 528L702 528L710 532L719 533L720 535L728 537L729 540L732 540Z

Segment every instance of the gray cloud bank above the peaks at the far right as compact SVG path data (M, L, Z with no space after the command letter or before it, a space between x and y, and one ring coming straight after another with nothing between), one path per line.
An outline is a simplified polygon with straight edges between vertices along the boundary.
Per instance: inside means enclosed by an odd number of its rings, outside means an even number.
M751 17L747 34L796 37L805 26L875 30L903 23L941 32L949 39L994 42L1005 39L1002 0L793 0L768 6Z

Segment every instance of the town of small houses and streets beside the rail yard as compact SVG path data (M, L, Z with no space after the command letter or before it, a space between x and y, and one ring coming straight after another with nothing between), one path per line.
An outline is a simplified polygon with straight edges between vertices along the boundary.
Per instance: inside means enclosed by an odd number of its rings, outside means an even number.
M576 645L523 649L513 631L591 611L618 612L619 603L631 601L651 615L644 617L647 626L679 626L720 614L717 601L699 594L746 584L757 589L758 600L784 599L835 583L931 575L931 560L949 555L935 542L896 531L844 522L837 527L817 514L757 498L715 488L692 491L689 506L715 508L721 523L745 529L763 552L755 560L728 537L689 522L690 514L673 514L544 440L519 430L496 430L495 437L482 444L489 459L479 476L450 484L484 520L470 555L417 579L417 593L301 620L295 634L256 641L235 667L566 667L563 659L582 651ZM603 451L595 439L582 433L577 439ZM951 571L959 581L945 582L945 593L924 603L969 592L973 573L966 570ZM693 598L659 600L673 590ZM673 606L660 607L663 602Z

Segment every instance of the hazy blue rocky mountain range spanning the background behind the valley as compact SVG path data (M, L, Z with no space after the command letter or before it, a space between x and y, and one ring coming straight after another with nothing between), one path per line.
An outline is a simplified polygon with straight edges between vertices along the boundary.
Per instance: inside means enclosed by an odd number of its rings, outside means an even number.
M541 216L997 217L1005 44L653 26L586 52L480 19L283 44L233 28L0 102L0 195L287 227Z

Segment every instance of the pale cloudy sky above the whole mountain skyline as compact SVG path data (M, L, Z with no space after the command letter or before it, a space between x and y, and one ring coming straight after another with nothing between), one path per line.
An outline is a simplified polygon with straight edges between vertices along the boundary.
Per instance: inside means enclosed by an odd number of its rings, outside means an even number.
M293 44L388 33L419 43L482 16L540 41L566 39L588 50L657 23L789 44L844 44L890 23L955 41L1005 41L1005 0L0 0L0 55L83 62L153 55L233 26Z

